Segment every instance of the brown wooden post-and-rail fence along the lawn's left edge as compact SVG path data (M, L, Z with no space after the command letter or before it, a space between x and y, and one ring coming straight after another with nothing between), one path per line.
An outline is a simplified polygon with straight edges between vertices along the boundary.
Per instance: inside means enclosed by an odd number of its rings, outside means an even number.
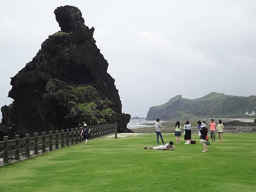
M108 134L115 133L115 138L117 138L117 123L107 124L107 125L96 125L90 126L90 139L97 137L103 137ZM20 160L20 153L25 152L26 157L30 157L30 151L34 151L34 155L38 154L38 150L42 150L42 153L46 152L46 148L52 151L54 148L63 148L65 146L73 145L82 141L80 137L81 128L72 128L71 130L49 131L47 135L46 132L42 132L41 136L38 133L34 133L34 137L30 137L29 134L22 139L20 135L15 135L15 140L8 140L8 136L3 137L3 141L0 142L0 148L3 151L0 152L0 158L3 158L3 163L8 163L9 155L15 155L15 160Z

